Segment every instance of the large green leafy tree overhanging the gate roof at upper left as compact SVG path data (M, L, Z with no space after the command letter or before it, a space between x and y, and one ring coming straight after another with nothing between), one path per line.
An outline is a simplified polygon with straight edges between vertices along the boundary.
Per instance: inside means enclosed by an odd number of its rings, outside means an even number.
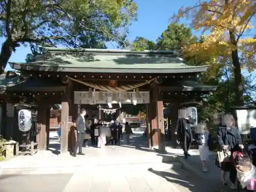
M2 1L0 32L6 41L0 65L5 68L21 44L32 49L37 45L105 48L105 41L122 39L136 11L133 0Z

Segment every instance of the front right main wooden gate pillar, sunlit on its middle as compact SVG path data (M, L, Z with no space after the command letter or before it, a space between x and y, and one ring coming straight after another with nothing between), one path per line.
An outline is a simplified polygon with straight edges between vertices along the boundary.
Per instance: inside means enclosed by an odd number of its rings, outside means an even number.
M157 139L159 152L165 152L165 134L164 134L164 117L163 117L163 101L161 98L158 84L153 84L153 103L155 105L156 118L154 123L157 126Z

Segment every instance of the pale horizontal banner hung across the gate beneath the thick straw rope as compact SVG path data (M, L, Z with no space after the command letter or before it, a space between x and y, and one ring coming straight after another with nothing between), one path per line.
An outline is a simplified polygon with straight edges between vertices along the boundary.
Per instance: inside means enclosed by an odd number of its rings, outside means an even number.
M102 98L99 96L100 92L95 92L93 98L88 98L88 92L87 91L75 91L74 92L74 103L75 104L103 104L103 103L108 103L108 97L112 97L112 93L108 92L103 92L102 93ZM118 96L118 101L121 103L129 103L127 100L129 99L132 101L135 96L135 92L120 92L117 93ZM125 95L129 95L130 98L126 98ZM148 91L142 91L140 92L140 98L136 98L137 104L142 104L142 103L150 103L150 92ZM130 102L132 103L132 102Z

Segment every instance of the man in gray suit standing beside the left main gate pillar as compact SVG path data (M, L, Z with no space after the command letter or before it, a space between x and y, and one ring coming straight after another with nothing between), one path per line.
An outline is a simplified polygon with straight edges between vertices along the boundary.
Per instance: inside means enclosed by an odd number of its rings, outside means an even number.
M84 134L86 133L86 110L82 109L80 115L76 118L76 131L77 131L77 141L73 150L72 156L76 157L77 148L79 147L77 155L84 155L82 153L82 144L84 139Z

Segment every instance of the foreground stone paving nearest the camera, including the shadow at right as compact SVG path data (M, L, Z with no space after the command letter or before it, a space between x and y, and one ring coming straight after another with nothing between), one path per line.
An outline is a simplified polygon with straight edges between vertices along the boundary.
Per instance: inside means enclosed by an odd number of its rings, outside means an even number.
M202 182L181 163L88 166L86 173L0 176L1 192L220 192L223 185Z

